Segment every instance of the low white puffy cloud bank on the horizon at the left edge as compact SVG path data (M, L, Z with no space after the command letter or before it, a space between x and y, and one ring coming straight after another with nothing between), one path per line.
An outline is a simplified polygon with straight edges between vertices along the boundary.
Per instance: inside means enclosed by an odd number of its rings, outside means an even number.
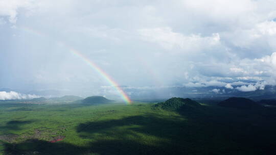
M11 99L32 99L41 96L31 95L31 94L20 94L14 91L6 92L0 91L0 100L11 100Z

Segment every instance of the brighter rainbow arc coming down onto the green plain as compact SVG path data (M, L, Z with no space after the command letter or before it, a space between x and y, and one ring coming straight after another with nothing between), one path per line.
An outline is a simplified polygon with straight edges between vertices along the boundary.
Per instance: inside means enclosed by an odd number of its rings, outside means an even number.
M25 30L28 33L35 34L37 36L43 36L46 37L46 35L35 31L30 28L21 27L22 30ZM52 39L52 38L51 38ZM127 94L123 91L123 89L119 86L118 83L116 83L104 70L102 70L99 66L97 66L93 61L87 59L85 56L83 56L80 51L72 48L71 46L63 43L63 42L57 42L59 45L63 45L69 49L69 51L76 57L80 58L83 62L85 62L89 67L93 68L95 71L97 71L111 86L117 89L117 91L120 93L121 98L128 104L131 104L131 100L127 96Z

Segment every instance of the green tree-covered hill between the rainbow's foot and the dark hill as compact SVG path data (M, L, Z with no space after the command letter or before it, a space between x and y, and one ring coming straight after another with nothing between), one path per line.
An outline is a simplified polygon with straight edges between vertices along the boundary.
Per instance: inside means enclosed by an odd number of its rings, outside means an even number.
M173 97L165 102L160 102L155 105L155 107L161 108L168 111L184 111L184 110L194 110L201 108L201 105L190 98L179 98Z

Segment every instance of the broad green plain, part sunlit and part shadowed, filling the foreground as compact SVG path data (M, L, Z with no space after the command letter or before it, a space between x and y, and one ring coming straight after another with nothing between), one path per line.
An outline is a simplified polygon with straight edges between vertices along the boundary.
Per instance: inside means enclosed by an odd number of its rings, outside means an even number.
M274 154L276 109L202 102L172 98L156 107L2 101L0 154ZM192 110L179 113L181 107Z

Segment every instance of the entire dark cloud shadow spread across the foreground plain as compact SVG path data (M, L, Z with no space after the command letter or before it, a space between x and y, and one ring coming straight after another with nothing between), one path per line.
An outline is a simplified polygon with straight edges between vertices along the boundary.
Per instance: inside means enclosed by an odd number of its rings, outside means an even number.
M149 114L81 123L76 131L87 141L85 145L30 139L17 144L5 143L5 153L269 154L275 151L270 146L276 138L273 127L269 128L271 121L263 122L263 117L256 112L212 108L205 107L204 112L183 112L182 116Z

